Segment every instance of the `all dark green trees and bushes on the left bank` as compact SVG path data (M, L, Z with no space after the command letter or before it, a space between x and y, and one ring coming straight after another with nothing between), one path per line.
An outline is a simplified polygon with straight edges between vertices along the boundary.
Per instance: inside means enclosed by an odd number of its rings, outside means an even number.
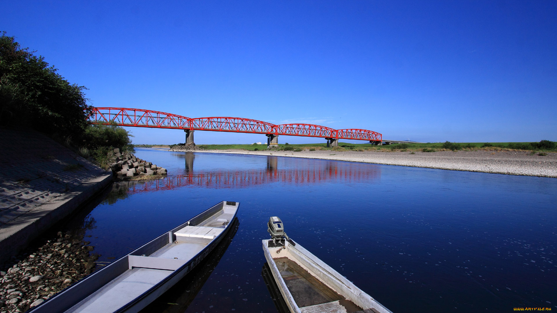
M35 129L99 165L109 151L133 151L130 134L116 125L88 125L85 86L70 84L43 56L0 36L0 125Z

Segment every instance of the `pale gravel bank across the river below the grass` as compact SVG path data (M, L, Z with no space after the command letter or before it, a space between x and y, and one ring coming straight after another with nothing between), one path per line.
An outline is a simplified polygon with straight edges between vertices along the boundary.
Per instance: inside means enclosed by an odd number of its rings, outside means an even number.
M526 151L438 151L438 152L379 152L379 151L243 151L204 150L203 153L236 153L277 155L293 158L339 160L405 167L466 170L510 175L557 177L557 153L546 156Z

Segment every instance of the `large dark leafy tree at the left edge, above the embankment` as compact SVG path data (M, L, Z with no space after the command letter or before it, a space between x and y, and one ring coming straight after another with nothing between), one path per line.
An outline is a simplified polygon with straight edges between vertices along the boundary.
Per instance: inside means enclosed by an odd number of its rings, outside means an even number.
M34 51L33 51L34 52ZM0 126L80 140L91 111L84 86L70 84L42 56L0 37Z

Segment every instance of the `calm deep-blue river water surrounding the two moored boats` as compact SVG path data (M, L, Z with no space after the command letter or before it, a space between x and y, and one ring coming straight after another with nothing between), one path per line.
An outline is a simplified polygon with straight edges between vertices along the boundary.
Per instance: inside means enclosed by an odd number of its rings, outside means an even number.
M270 216L395 313L557 310L557 179L314 159L137 149L168 169L92 209L110 262L222 200L241 202L221 251L149 311L276 312L261 276ZM211 271L212 270L212 271Z

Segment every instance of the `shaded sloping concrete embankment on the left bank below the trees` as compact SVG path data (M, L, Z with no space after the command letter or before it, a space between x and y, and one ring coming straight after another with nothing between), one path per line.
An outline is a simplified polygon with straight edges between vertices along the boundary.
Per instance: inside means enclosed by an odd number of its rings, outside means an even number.
M0 262L111 183L106 171L35 131L1 130Z

